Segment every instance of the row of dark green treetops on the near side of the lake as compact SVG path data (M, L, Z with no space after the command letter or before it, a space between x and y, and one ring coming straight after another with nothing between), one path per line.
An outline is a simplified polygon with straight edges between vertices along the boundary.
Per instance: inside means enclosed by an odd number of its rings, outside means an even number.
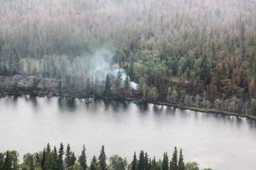
M69 144L64 150L64 145L61 143L57 150L56 146L51 149L48 143L43 151L24 154L22 163L19 163L17 151L0 152L0 170L199 170L197 162L184 163L183 150L180 149L178 152L177 147L174 148L170 160L167 152L164 152L163 160L158 161L155 156L150 158L143 150L140 151L137 159L134 152L133 161L130 164L126 158L119 155L107 158L104 145L102 145L99 157L96 158L94 155L89 164L85 151L85 145L83 145L81 155L76 156Z

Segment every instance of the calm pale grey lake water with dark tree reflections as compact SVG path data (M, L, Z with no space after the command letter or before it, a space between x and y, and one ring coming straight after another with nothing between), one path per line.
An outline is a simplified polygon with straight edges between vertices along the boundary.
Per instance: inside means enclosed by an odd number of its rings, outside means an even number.
M170 158L177 146L186 162L197 161L200 168L256 169L256 121L251 119L121 100L93 99L88 105L63 97L0 99L0 152L15 149L21 159L47 142L57 148L69 142L76 155L85 144L88 161L102 144L107 156L119 154L129 162L141 149L157 159L167 151Z

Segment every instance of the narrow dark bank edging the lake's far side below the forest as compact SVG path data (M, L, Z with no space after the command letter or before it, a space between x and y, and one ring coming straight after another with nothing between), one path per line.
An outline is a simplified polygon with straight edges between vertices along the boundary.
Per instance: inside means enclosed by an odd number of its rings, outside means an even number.
M84 95L84 94L81 94L81 93L63 93L63 92L60 92L60 93L42 93L42 91L40 91L39 93L35 93L35 91L33 91L33 93L26 93L26 92L23 92L23 93L19 93L19 92L8 92L8 93L5 93L5 95L0 95L0 98L4 98L8 95L12 95L12 96L22 96L22 95L32 95L32 96L37 96L37 97L68 97L68 98L78 98L78 99L83 99L83 98L104 98L104 99L118 99L118 100L132 100L133 103L135 103L136 105L140 105L140 104L143 104L140 103L140 102L136 102L139 98L135 98L135 97L129 97L129 98L116 98L116 97L106 97L106 96L95 96L95 95ZM236 117L242 117L242 118L247 118L247 119L252 119L252 120L255 120L256 121L256 116L254 115L250 115L250 114L239 114L239 113L235 113L235 112L225 112L225 111L222 111L222 110L216 110L216 109L203 109L203 108L197 108L197 107L187 107L187 106L180 106L180 105L172 105L168 102L161 102L161 101L156 101L156 102L144 102L144 103L152 103L152 104L155 104L155 105L161 105L161 106L171 106L171 107L175 107L175 108L178 108L178 109L188 109L188 110L192 110L192 111L197 111L197 112L205 112L205 113L213 113L213 114L225 114L225 115L228 115L228 116L236 116Z

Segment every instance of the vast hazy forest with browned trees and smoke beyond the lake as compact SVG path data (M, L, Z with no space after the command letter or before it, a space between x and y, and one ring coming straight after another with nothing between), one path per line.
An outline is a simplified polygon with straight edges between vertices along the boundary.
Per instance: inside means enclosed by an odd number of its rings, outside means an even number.
M256 115L256 2L0 0L0 63L1 95L136 95Z

